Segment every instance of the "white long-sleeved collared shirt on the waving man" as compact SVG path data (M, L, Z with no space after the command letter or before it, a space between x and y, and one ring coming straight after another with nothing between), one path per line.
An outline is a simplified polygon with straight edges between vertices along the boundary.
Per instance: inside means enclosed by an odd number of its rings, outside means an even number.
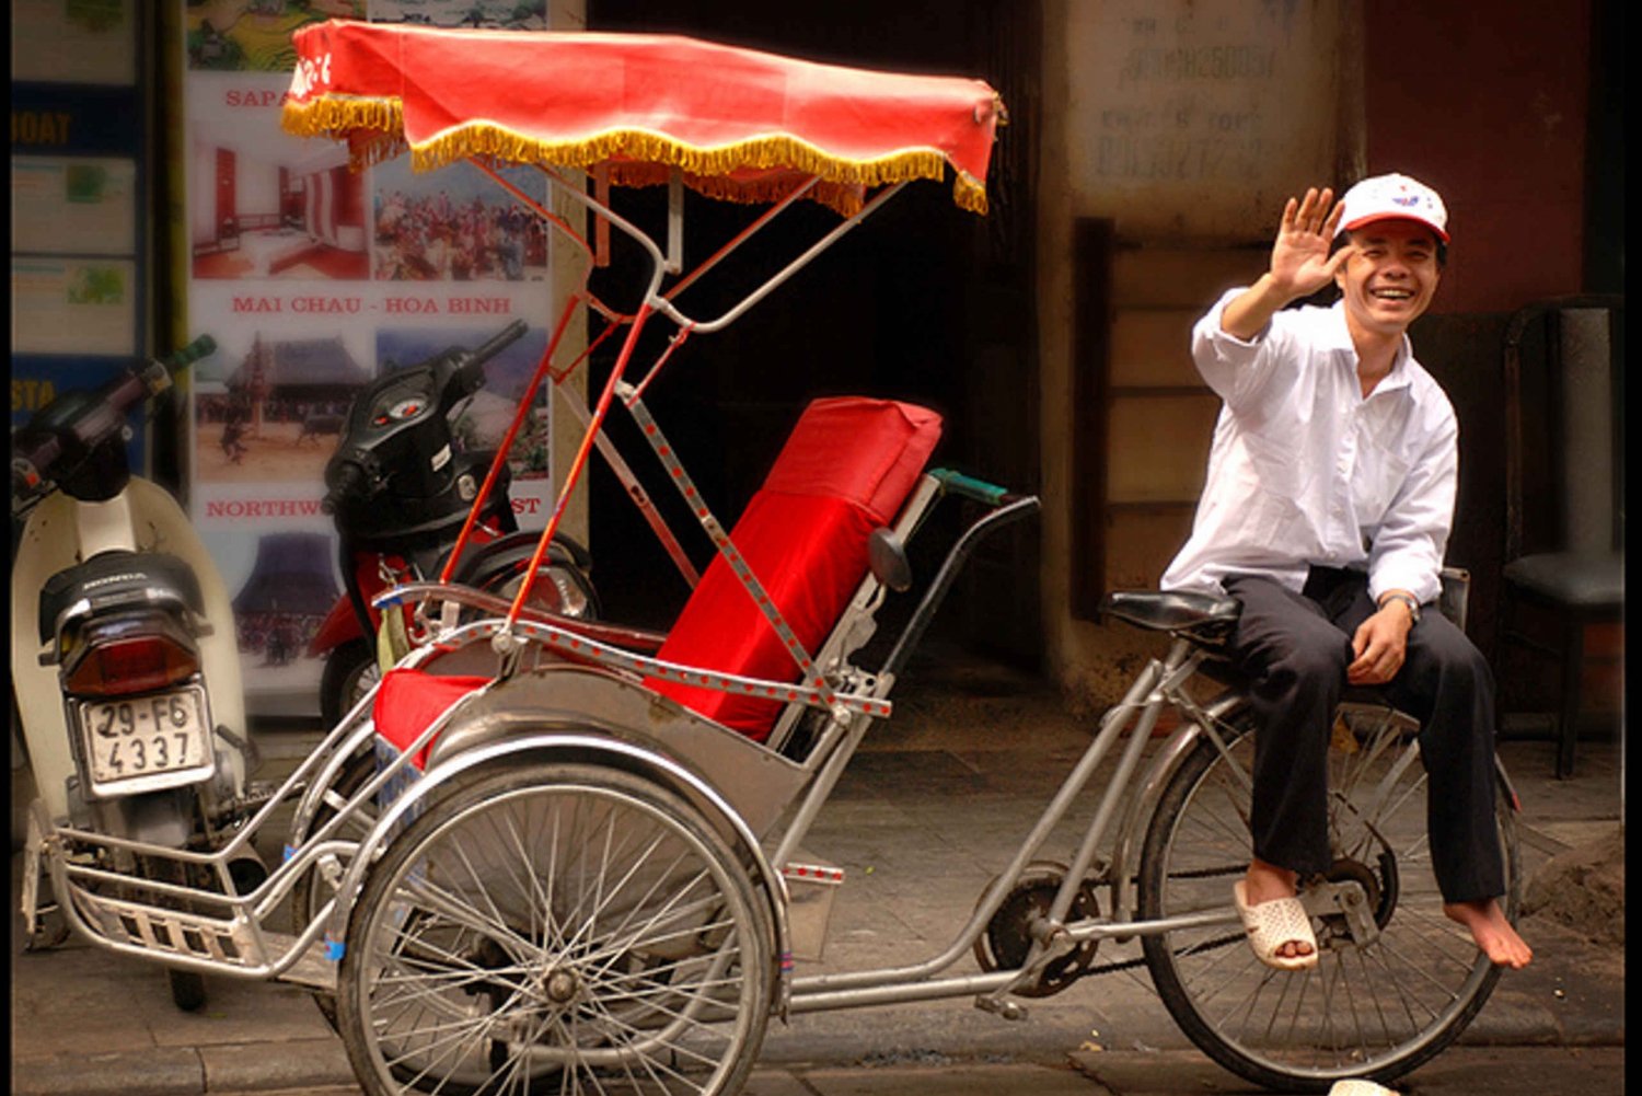
M1309 569L1366 570L1369 596L1440 590L1458 481L1458 421L1407 335L1368 398L1345 306L1284 309L1245 342L1220 330L1228 291L1192 329L1223 401L1192 536L1164 590L1223 593L1235 573L1299 592Z

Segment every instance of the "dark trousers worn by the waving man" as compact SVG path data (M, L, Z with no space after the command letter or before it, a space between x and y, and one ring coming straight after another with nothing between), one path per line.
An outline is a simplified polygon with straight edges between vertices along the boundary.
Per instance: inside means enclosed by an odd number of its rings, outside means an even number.
M1346 687L1351 634L1376 606L1368 577L1314 567L1300 593L1233 575L1241 601L1233 638L1251 682L1254 733L1254 856L1304 874L1328 854L1328 741ZM1445 902L1504 894L1494 828L1494 679L1481 652L1430 606L1409 631L1407 659L1379 692L1420 721L1432 868Z

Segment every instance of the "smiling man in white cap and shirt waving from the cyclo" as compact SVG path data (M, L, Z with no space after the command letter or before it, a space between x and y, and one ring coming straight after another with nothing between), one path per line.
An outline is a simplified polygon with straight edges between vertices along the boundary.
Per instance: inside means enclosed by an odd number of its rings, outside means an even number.
M1279 969L1317 963L1297 886L1330 866L1327 762L1346 684L1420 720L1432 863L1443 910L1499 965L1532 953L1499 905L1494 684L1440 613L1458 424L1414 360L1448 248L1435 191L1401 174L1310 189L1282 210L1271 265L1192 330L1222 398L1192 536L1166 590L1243 605L1232 651L1251 682L1253 861L1233 892ZM1292 302L1333 283L1333 307Z

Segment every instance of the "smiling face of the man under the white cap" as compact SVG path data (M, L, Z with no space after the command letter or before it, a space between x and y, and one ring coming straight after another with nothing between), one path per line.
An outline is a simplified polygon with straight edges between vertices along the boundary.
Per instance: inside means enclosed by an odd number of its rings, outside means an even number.
M1361 329L1399 335L1432 302L1442 269L1437 233L1415 220L1374 220L1351 230L1351 258L1335 273L1346 315Z

